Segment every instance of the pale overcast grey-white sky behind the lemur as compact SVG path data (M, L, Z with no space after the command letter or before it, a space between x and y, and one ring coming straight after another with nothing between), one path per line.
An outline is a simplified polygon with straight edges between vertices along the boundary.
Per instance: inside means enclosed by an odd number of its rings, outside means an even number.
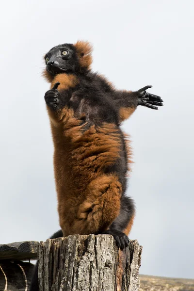
M42 57L89 40L93 70L119 89L160 95L138 107L128 194L140 273L194 278L194 1L4 1L0 45L0 243L46 240L59 229ZM3 9L2 9L3 8Z

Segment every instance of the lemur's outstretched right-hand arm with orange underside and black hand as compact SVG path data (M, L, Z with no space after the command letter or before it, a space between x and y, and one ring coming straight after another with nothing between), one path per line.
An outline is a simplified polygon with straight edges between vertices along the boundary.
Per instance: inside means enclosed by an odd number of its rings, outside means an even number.
M135 111L138 105L146 106L151 109L158 109L163 105L163 100L157 95L146 92L148 85L138 91L114 91L113 99L119 110L120 121L123 121Z

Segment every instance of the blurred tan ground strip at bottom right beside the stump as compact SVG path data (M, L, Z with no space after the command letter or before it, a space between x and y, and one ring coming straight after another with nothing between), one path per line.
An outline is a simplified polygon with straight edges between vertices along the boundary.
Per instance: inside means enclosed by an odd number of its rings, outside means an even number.
M140 291L194 291L194 279L140 275Z

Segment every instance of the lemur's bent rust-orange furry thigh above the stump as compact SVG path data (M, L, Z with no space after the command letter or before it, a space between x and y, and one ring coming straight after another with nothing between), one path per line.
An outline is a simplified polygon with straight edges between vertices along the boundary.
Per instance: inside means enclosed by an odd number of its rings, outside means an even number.
M73 233L98 234L108 229L119 215L121 193L121 184L114 174L91 181L73 222Z

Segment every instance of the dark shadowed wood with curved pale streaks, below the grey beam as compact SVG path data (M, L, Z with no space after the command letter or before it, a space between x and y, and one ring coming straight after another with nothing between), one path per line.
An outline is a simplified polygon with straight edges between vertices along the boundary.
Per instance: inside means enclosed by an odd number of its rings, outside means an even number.
M0 261L0 291L27 291L34 265L27 262Z

